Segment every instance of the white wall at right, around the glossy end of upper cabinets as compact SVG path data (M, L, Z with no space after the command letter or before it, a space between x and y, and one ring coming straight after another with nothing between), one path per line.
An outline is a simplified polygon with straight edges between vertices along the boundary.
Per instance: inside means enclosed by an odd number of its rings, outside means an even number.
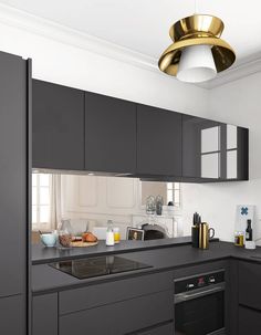
M194 211L202 213L222 240L233 240L236 205L257 205L257 233L261 238L261 73L210 91L210 117L250 128L250 181L184 185L185 232Z

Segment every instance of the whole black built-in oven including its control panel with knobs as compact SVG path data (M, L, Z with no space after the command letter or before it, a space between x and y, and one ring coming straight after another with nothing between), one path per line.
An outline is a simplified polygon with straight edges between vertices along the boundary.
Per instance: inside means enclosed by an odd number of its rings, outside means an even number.
M175 334L225 332L225 270L175 281Z

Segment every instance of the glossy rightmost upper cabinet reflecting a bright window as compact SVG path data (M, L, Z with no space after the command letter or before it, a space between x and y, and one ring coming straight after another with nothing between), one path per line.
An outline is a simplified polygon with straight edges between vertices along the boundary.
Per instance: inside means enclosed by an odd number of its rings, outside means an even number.
M248 179L248 129L182 116L182 176L211 180Z

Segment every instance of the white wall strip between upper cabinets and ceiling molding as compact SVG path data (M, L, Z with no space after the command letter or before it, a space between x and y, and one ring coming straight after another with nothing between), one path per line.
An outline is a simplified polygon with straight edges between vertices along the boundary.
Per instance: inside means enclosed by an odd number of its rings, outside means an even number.
M33 60L33 77L184 113L207 113L208 93L121 61L0 23L0 50Z

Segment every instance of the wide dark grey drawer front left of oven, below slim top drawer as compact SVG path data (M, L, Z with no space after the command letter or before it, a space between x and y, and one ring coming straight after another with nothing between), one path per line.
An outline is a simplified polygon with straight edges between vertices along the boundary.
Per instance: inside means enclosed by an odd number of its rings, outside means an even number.
M124 335L170 321L173 292L164 291L60 317L59 334L71 335L79 326L92 335Z

